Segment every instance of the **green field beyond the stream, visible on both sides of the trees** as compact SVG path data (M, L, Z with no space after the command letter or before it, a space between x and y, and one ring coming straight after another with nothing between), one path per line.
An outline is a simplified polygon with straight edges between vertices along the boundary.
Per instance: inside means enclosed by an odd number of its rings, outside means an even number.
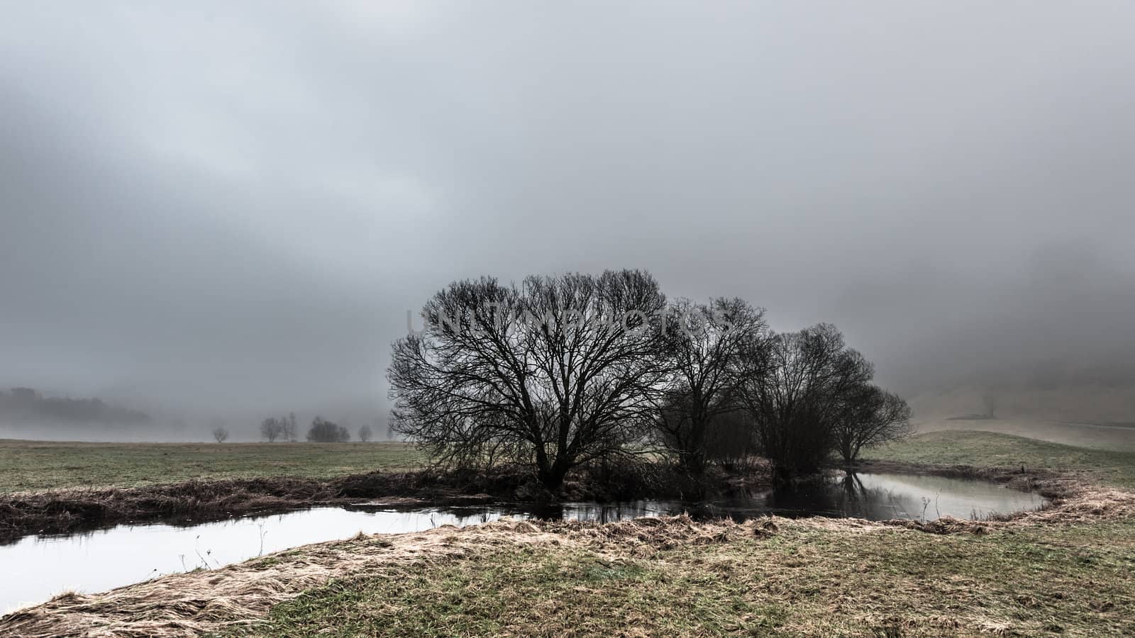
M1135 431L1133 431L1135 437ZM1135 488L1135 452L1046 443L985 431L932 431L871 450L865 459L918 464L1088 472ZM56 443L0 439L0 494L67 487L133 487L194 478L333 478L420 467L403 443Z

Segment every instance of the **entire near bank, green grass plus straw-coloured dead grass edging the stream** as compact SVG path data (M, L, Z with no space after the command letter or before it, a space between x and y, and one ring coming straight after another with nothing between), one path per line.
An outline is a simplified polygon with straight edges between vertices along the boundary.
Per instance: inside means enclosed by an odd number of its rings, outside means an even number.
M310 545L0 620L7 636L1124 635L1135 495L938 526L497 522Z

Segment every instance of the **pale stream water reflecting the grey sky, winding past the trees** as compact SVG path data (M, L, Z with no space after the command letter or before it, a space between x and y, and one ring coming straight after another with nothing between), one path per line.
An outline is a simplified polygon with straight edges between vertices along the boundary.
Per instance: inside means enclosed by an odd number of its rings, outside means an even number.
M639 517L689 513L695 518L735 520L780 515L892 518L984 518L1034 510L1035 494L984 481L908 475L856 475L824 484L773 490L713 503L633 501L563 503L549 507L490 505L413 511L317 507L187 527L118 526L64 537L27 537L0 546L0 613L43 602L74 589L92 593L140 582L165 573L244 561L310 543L365 534L421 531L459 527L501 517L612 522Z

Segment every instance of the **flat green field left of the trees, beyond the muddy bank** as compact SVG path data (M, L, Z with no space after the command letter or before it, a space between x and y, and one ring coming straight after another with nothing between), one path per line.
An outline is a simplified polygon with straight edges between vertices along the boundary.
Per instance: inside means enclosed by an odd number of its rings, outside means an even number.
M195 478L331 478L410 469L404 443L56 443L0 439L0 493Z

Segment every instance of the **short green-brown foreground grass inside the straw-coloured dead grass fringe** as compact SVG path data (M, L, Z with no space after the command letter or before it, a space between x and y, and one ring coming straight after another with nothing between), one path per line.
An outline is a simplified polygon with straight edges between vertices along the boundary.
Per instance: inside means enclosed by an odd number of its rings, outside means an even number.
M985 536L777 528L490 545L333 580L233 633L1135 633L1129 519Z

